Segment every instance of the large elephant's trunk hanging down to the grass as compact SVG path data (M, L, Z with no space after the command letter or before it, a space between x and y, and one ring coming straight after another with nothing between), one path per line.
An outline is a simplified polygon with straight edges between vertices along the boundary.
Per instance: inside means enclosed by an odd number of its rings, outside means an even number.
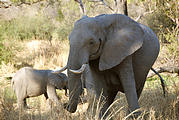
M83 90L82 82L81 82L82 72L79 72L77 74L77 73L74 73L73 70L78 70L82 68L83 63L84 63L84 59L80 59L78 54L72 54L70 50L70 54L68 58L69 103L68 103L67 110L72 113L75 112L77 109L79 97L82 94L82 90Z

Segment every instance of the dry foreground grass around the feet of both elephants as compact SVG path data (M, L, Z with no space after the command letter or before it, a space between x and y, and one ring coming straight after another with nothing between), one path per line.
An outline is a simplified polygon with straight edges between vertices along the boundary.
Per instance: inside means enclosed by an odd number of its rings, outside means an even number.
M67 112L63 106L68 98L64 91L58 91L60 105L46 108L44 96L29 98L27 103L31 109L22 113L17 108L16 98L11 98L10 80L3 80L0 89L0 119L2 120L100 120L98 115L102 104L89 95L85 95L76 113ZM3 85L2 85L3 84ZM154 86L155 84L155 86ZM151 87L153 86L153 87ZM164 98L159 81L147 81L140 106L142 114L138 119L146 120L177 120L179 116L179 78L168 84L167 96ZM88 109L88 105L91 105ZM113 117L114 120L125 120L127 103L124 94L119 93L114 104L110 107L111 113L105 120ZM102 120L102 119L101 119Z

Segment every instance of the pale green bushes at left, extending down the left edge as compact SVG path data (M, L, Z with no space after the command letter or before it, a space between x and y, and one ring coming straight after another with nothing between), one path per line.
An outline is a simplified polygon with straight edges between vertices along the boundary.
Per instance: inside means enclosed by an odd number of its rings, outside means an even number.
M0 21L0 64L11 62L15 52L21 50L20 42L24 40L51 40L55 25L45 17L17 18Z

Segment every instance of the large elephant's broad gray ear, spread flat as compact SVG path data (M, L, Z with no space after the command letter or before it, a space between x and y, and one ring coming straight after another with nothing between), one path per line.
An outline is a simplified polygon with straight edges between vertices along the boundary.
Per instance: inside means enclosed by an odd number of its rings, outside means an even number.
M106 42L99 60L101 71L120 64L127 56L141 48L144 32L140 25L126 16L110 16L104 18ZM107 20L107 21L105 21Z

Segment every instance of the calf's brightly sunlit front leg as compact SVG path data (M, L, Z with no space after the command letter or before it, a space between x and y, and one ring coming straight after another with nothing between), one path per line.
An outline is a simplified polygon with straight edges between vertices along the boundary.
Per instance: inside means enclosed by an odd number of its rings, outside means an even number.
M47 85L47 95L48 95L49 99L51 99L53 102L55 102L57 104L59 103L55 86L50 85L50 84Z

